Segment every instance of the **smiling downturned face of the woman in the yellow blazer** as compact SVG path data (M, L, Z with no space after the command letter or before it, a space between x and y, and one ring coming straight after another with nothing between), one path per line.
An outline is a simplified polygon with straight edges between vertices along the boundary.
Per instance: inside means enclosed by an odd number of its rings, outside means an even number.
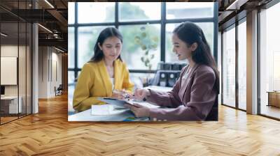
M106 38L103 44L98 43L99 48L103 51L104 59L108 61L115 61L120 56L122 50L122 42L116 36Z

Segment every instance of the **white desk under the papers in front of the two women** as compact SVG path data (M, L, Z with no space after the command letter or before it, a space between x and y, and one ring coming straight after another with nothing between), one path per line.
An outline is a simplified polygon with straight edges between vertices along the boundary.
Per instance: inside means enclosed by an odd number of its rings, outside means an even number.
M171 87L162 87L162 86L148 86L146 88L151 88L155 91L171 91L172 89ZM150 108L158 108L158 106L155 106L148 102L141 101L137 103ZM87 109L77 114L69 115L68 121L139 121L139 120L148 121L148 118L135 118L134 114L129 109L120 111L119 114L108 115L108 116L94 116L91 114L91 111L92 109Z

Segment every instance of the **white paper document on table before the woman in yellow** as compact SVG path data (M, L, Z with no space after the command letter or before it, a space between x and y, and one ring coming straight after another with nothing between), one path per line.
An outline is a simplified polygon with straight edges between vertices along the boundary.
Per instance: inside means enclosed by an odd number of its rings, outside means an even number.
M92 105L92 115L94 116L108 116L120 114L129 109L122 107L115 107L111 104Z

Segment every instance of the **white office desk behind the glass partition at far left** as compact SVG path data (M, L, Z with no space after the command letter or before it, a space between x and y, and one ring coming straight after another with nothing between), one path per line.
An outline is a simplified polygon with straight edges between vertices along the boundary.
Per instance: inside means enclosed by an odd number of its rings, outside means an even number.
M18 99L20 100L18 102ZM19 112L18 112L19 110ZM22 97L4 96L1 97L1 111L3 114L18 114L22 112Z

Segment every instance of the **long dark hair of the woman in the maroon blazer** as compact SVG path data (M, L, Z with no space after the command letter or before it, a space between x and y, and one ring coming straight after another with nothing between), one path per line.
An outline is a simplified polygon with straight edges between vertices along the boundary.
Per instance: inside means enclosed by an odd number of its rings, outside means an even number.
M197 49L192 53L192 59L195 63L208 65L214 70L216 77L214 88L219 93L220 80L216 61L211 55L211 49L200 26L197 26L197 24L194 24L193 22L184 22L177 26L173 33L175 33L180 40L186 42L188 46L197 42Z

